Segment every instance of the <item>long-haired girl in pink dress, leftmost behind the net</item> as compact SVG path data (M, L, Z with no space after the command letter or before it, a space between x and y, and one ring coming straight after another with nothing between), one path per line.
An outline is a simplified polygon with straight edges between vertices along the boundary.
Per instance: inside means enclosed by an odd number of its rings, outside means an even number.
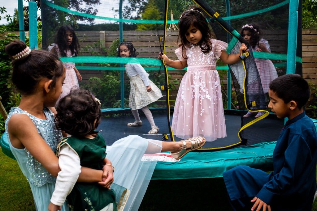
M79 52L79 42L74 29L70 25L61 26L58 29L55 43L57 44L54 45L51 52L55 53L58 57L73 57L77 56ZM79 86L78 80L82 80L81 74L75 67L75 63L65 62L64 65L66 68L66 78L63 84L63 92L56 105L63 96L69 93L73 86Z

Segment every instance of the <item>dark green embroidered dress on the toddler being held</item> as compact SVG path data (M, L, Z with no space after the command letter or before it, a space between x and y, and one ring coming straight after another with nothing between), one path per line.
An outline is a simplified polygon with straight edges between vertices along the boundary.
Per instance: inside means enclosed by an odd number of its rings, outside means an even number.
M102 170L103 160L106 157L106 144L102 136L98 134L94 139L78 139L73 136L63 138L58 146L58 154L64 144L67 144L77 153L81 166ZM113 203L113 210L116 210L113 190L103 188L98 183L77 182L67 196L66 202L72 210L97 211L110 203Z

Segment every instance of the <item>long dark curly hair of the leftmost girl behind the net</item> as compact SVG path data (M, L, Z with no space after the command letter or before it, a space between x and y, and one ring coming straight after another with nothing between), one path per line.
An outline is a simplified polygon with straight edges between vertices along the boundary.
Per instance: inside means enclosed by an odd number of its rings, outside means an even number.
M73 40L70 46L67 45L66 31L70 31L73 34ZM70 25L61 26L57 31L57 36L55 37L55 43L57 43L60 50L61 56L66 56L67 49L69 47L72 55L77 56L79 52L79 42L75 34L74 29Z

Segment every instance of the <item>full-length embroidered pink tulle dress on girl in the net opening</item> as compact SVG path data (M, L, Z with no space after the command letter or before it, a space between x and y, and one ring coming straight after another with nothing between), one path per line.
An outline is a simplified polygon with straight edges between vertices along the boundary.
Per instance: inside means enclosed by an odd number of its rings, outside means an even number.
M186 61L187 72L179 86L176 97L172 131L179 138L203 136L207 141L224 138L227 135L223 102L216 60L228 44L210 40L212 50L204 54L199 45L175 50L179 60Z

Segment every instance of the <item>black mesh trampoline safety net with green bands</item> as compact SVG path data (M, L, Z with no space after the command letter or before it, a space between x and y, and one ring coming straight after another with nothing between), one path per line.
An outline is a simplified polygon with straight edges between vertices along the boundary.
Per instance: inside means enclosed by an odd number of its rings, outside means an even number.
M217 61L227 136L200 150L277 140L284 122L269 114L267 92L271 80L286 74L288 30L294 29L288 28L289 0L41 0L42 49L61 57L67 71L73 71L66 78L74 83L77 69L82 78L78 85L100 100L98 130L107 145L134 134L181 140L171 124L186 68L165 66L158 55L178 59L178 21L191 5L204 10L213 38L229 44L227 53L239 53L241 43L248 46L245 58L234 65ZM73 51L63 48L69 32L77 40ZM250 33L259 41L247 41ZM301 40L301 34L294 39ZM257 50L262 45L267 50ZM297 53L296 72L301 74L301 51Z

